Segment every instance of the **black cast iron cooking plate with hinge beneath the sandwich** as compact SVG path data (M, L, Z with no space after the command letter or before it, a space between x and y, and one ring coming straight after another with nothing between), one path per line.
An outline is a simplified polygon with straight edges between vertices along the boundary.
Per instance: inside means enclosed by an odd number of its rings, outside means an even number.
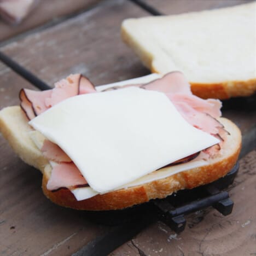
M185 228L184 214L206 207L214 207L224 216L232 212L234 203L226 191L220 191L233 183L238 172L238 162L225 177L194 189L179 190L165 199L154 199L141 205L115 211L85 211L92 222L104 225L119 225L147 218L161 220L176 232Z

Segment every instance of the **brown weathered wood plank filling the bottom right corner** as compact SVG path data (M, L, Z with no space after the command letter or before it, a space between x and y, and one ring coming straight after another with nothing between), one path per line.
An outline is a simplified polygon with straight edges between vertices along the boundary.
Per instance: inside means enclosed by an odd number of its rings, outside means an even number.
M240 161L238 176L229 188L235 202L229 216L224 217L211 208L190 214L180 235L158 222L110 255L254 255L255 174L254 150Z

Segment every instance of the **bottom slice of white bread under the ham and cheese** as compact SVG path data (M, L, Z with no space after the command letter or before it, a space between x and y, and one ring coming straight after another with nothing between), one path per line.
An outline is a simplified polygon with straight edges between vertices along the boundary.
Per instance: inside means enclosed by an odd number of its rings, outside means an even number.
M50 178L51 166L32 142L29 132L32 130L27 118L19 106L7 107L0 111L0 131L8 140L14 152L28 165L32 165L43 174L44 194L58 205L77 210L117 210L130 207L150 199L164 198L174 191L194 188L225 176L235 165L241 148L241 133L230 120L220 118L225 129L230 132L223 144L223 155L213 158L209 164L174 174L137 187L120 189L90 199L77 201L68 189L49 191L46 184Z

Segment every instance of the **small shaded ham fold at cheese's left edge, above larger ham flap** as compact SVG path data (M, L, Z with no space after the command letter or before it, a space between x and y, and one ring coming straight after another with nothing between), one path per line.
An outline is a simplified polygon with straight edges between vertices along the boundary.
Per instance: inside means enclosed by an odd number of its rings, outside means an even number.
M44 140L43 147L41 151L45 158L55 161L55 162L72 162L69 156L59 147L57 144L49 141L48 139Z

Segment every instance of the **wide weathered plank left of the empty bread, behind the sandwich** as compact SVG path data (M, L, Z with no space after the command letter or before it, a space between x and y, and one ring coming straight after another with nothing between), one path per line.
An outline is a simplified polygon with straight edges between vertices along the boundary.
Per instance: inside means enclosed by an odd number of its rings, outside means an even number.
M130 2L107 1L1 50L50 85L74 72L95 84L137 77L149 71L121 42L120 25L125 18L143 15L147 13Z

